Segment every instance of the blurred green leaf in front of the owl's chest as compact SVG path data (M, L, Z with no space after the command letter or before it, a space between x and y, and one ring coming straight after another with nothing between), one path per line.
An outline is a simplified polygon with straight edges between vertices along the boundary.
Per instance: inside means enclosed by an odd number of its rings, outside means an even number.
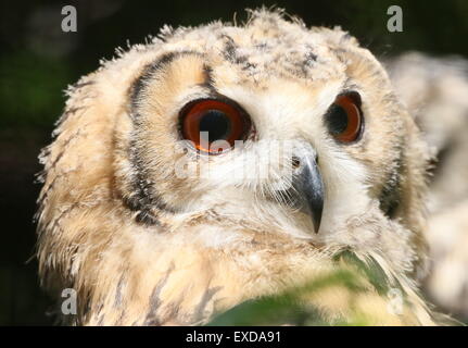
M390 283L375 260L364 262L351 251L338 253L334 262L336 270L280 294L245 301L214 318L208 326L366 326L378 323L377 316L364 313L355 306L357 297L375 291L385 301L390 301L390 289L399 285ZM345 289L349 295L347 307L343 308L345 315L330 319L319 308L304 300L336 288Z

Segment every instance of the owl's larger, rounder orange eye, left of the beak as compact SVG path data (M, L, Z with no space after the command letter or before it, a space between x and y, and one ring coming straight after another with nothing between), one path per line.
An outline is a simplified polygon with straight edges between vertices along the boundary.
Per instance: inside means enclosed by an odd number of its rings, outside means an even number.
M245 139L250 128L249 117L240 107L216 99L191 102L180 116L182 137L210 154L233 148L236 140Z

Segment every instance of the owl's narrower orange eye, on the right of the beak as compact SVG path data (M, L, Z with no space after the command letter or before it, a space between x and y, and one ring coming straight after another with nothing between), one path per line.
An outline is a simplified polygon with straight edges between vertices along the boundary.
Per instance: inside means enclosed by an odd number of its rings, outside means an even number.
M338 96L327 112L326 122L330 134L340 142L357 140L364 123L359 95L350 92Z

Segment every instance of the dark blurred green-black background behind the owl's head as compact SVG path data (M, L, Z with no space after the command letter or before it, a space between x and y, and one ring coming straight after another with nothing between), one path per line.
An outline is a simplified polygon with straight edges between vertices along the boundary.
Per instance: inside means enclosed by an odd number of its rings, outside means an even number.
M77 33L63 33L62 7L75 5ZM33 215L37 156L63 109L63 90L143 42L163 24L245 18L243 9L276 4L307 25L340 25L379 57L407 50L468 57L468 1L2 1L0 4L0 325L47 325L51 301L39 288ZM389 33L387 9L403 9L403 33Z

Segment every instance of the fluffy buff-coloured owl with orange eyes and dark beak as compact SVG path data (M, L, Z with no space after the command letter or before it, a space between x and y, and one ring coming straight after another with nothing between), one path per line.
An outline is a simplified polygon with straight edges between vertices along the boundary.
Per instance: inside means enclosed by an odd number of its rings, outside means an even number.
M381 271L330 324L431 325L430 151L382 65L340 28L281 10L163 27L67 91L39 197L41 283L76 325L198 325L334 270ZM382 288L399 289L400 311Z

